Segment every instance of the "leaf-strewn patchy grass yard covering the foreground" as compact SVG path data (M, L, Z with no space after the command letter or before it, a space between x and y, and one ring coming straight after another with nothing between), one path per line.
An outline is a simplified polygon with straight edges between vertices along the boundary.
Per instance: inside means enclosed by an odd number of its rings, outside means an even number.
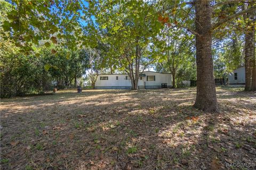
M218 114L193 108L195 96L189 88L2 99L1 169L227 169L227 162L255 163L255 93L218 87Z

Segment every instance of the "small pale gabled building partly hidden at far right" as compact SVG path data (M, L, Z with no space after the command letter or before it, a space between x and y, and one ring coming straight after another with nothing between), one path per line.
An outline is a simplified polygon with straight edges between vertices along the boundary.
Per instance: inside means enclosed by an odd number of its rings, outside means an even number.
M245 84L245 67L238 67L228 75L229 84Z

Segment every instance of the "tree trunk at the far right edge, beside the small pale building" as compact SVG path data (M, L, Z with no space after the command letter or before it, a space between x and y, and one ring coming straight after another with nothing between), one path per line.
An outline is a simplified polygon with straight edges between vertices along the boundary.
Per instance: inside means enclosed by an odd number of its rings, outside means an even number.
M251 29L245 31L245 91L256 90L256 58L255 58L255 27L252 24L255 12L247 13L250 22L247 27Z

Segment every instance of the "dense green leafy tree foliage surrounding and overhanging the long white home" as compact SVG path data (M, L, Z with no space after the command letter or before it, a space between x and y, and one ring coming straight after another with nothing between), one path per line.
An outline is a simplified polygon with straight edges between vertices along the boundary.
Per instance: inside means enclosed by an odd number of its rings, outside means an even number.
M195 34L188 29L195 28L195 10L186 1L0 3L1 97L74 88L85 78L93 88L101 73L170 72L174 87L196 80ZM212 17L243 5L213 4ZM241 15L213 31L215 78L244 65L246 22Z

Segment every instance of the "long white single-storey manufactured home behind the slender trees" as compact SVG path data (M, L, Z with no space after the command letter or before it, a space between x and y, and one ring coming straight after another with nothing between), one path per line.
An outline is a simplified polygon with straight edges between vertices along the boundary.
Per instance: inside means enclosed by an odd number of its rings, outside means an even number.
M145 71L139 74L139 89L161 89L172 87L171 73ZM100 74L95 82L95 89L131 89L128 74Z

